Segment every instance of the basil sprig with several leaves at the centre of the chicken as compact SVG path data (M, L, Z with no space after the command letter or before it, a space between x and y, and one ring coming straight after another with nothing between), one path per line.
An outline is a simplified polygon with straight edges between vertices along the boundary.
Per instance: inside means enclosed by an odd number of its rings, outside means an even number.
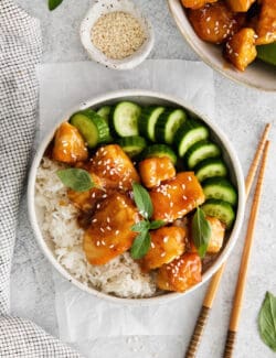
M145 218L131 227L132 231L138 232L130 249L132 259L141 259L150 248L149 230L156 230L164 225L162 220L150 221L153 206L149 193L138 183L132 184L134 199L140 215Z

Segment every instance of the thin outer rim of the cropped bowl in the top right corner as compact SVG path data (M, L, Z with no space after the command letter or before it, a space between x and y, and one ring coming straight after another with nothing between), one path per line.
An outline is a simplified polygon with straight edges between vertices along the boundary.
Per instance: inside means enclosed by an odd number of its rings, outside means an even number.
M210 59L208 59L205 57L205 55L203 54L203 52L194 44L194 42L192 41L192 39L190 37L190 35L188 34L188 32L184 30L181 21L179 20L177 13L174 12L174 10L172 9L172 2L174 0L167 0L168 2L168 8L170 11L171 17L173 18L180 33L182 34L182 36L184 37L184 40L189 43L189 45L192 47L192 50L198 54L198 56L208 65L210 66L212 69L219 72L222 76L233 80L234 83L238 84L238 85L244 85L248 88L253 88L253 89L258 89L258 90L264 90L267 93L275 93L275 89L273 88L267 88L267 87L262 87L261 85L254 85L252 84L250 80L247 80L246 78L238 79L237 77L233 76L231 73L223 70L223 68L219 67L217 65L213 64Z

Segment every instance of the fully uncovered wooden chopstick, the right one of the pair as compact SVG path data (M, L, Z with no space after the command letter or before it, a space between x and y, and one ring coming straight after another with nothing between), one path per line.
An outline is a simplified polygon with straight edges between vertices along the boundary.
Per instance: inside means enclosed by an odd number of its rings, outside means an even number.
M224 358L231 358L234 349L235 336L238 327L238 321L240 321L240 315L241 315L241 310L242 310L242 304L244 299L245 283L246 283L247 272L248 272L248 263L252 253L254 231L255 231L256 219L259 209L261 194L262 194L262 188L264 183L264 174L265 174L269 144L270 144L269 141L267 141L265 144L263 161L262 161L257 185L254 194L254 200L252 204L247 232L245 236L245 245L244 245L243 256L240 264L240 272L238 272L238 278L236 283L235 296L234 296L232 312L231 312L227 338L226 338L225 350L223 356Z

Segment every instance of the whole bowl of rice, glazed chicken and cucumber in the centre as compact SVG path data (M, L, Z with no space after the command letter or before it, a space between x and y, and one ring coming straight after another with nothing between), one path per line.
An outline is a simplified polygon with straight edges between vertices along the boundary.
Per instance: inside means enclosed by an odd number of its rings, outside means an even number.
M160 302L225 261L244 213L230 141L182 99L124 90L70 111L41 143L30 219L55 269L96 296Z

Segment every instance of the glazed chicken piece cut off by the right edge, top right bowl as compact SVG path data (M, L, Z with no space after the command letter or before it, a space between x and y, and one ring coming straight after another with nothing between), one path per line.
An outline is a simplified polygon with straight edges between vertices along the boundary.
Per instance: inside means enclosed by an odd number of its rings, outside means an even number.
M276 41L276 1L262 0L261 13L256 25L257 45L265 45Z

